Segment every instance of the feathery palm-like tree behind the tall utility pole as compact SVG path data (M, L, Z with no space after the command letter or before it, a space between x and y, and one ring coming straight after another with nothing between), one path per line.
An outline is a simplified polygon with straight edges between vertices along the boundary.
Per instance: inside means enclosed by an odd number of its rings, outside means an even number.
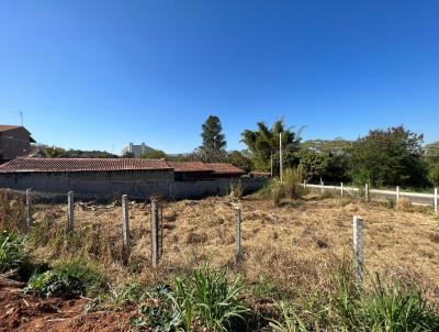
M270 159L273 155L274 171L279 171L279 134L282 133L282 147L284 167L292 167L296 162L293 153L300 150L301 132L293 132L291 128L285 128L283 120L273 123L269 129L263 122L257 123L256 131L245 130L241 134L241 142L245 143L250 152L251 161L257 170L270 171Z

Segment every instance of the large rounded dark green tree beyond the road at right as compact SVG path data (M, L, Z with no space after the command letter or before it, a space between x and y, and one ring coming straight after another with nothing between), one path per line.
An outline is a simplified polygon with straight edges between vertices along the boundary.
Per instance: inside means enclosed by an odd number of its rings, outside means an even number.
M423 186L426 166L421 143L423 134L403 126L372 130L353 143L349 174L358 185Z

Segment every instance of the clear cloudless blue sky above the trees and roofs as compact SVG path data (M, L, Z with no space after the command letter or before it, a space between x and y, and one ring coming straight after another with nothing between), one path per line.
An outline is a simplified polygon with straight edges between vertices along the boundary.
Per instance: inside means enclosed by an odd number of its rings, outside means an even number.
M404 124L439 141L439 1L1 1L0 123L169 153L257 121L304 139ZM114 147L113 147L114 146Z

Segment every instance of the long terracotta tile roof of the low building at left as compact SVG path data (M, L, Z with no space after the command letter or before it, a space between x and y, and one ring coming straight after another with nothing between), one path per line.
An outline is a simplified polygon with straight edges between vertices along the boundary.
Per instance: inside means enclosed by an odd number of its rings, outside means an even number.
M172 169L164 159L134 158L16 158L0 173L67 173Z

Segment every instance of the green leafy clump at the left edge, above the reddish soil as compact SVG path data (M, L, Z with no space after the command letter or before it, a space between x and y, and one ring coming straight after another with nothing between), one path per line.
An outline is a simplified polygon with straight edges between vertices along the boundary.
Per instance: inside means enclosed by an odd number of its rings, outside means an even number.
M23 237L5 231L0 234L0 273L30 265L23 241Z

